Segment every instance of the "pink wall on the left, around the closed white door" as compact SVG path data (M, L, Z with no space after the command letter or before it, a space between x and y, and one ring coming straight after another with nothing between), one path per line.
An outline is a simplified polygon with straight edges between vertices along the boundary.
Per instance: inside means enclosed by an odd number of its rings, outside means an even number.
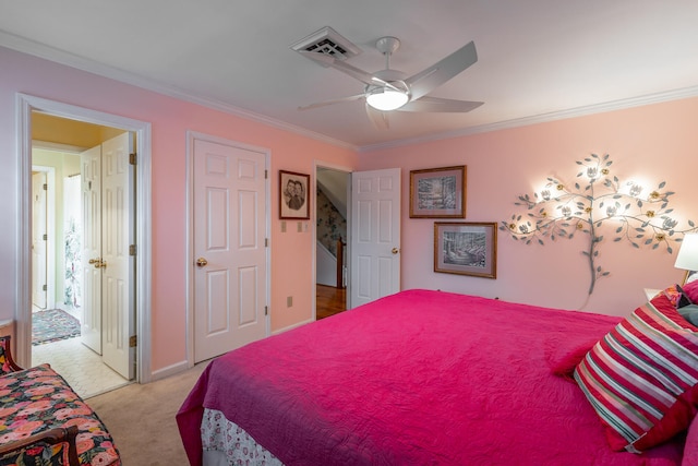
M185 168L186 131L226 138L270 152L272 330L311 318L314 299L312 229L280 232L278 170L312 174L314 160L353 167L354 152L221 111L0 48L0 217L15 219L19 148L16 93L81 106L152 123L153 372L185 360ZM0 230L0 320L13 318L17 296L17 232ZM289 273L292 271L292 273ZM293 307L286 307L293 296Z

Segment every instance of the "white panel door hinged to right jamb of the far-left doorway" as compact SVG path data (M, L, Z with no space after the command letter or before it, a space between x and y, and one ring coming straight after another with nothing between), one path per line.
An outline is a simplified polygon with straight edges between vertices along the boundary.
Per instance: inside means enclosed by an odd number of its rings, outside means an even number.
M101 319L103 362L124 379L135 377L135 246L133 135L101 144Z

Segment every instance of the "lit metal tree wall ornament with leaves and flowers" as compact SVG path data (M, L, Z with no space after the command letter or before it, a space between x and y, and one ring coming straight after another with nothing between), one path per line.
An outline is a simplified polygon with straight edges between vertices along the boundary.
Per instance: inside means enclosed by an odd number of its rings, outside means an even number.
M571 239L575 235L589 236L589 248L581 253L587 258L591 273L589 295L597 280L610 272L597 265L599 247L604 240L600 234L602 226L615 226L613 241L629 241L633 247L665 247L671 254L672 243L681 242L683 234L695 231L696 225L688 220L688 227L676 229L678 220L670 216L669 198L672 191L662 191L666 183L660 182L655 190L642 195L645 188L633 181L622 184L611 175L613 162L609 155L591 154L577 165L582 169L577 178L586 177L583 183L575 182L573 189L556 178L549 177L541 193L518 196L515 205L524 206L528 214L514 214L502 222L500 230L508 231L516 240L526 244L535 241L544 244L544 239Z

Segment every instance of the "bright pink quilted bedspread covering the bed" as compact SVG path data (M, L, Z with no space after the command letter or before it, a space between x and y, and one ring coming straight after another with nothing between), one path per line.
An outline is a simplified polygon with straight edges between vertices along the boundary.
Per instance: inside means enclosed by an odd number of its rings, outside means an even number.
M192 465L204 407L287 465L678 465L683 439L612 452L551 371L618 321L402 291L212 361L177 421Z

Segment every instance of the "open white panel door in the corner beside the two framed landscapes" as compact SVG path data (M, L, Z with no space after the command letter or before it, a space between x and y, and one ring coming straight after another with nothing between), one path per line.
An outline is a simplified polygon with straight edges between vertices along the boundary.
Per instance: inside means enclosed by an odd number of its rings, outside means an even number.
M351 174L350 307L400 290L400 169Z

